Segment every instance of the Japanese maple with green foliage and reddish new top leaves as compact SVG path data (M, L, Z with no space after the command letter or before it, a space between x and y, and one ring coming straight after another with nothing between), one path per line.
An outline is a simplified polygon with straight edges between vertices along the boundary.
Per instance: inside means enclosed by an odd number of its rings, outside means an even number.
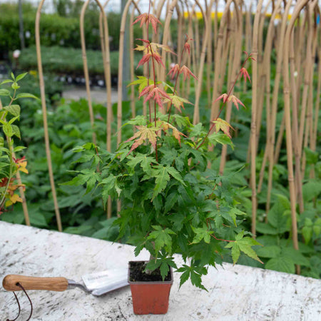
M138 16L148 30L148 24L157 31L158 19L152 14ZM190 54L190 40L186 36L178 63L173 64L168 78L173 83L158 81L157 68L165 68L161 51L173 54L168 46L155 44L149 39L141 42L136 50L143 52L138 66L147 64L148 77L138 76L132 86L138 85L138 96L148 103L148 116L136 116L123 126L135 126L136 131L115 153L103 151L92 143L74 148L83 152L78 162L90 162L91 166L78 172L70 185L87 184L101 190L104 203L108 197L121 200L121 211L114 224L119 227L118 239L136 246L135 253L146 248L151 260L146 272L161 270L163 279L173 267L180 276L180 285L190 278L193 285L205 289L201 277L208 266L223 262L223 256L231 250L236 263L240 252L260 260L251 248L259 243L250 238L240 225L245 213L238 210L234 200L237 190L230 181L233 175L221 176L208 168L215 161L215 153L208 146L229 144L229 123L220 118L225 103L231 101L238 108L243 103L233 96L233 88L240 76L250 79L245 63L228 93L223 93L223 105L209 129L201 123L193 125L181 112L185 98L178 96L178 77L195 78L183 64ZM157 68L156 68L157 66ZM244 106L244 105L243 105ZM180 253L185 264L177 267L173 254Z

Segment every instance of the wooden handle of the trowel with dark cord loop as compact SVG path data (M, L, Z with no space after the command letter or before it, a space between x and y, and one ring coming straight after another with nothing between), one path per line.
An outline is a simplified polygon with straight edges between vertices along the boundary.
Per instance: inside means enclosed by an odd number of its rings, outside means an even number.
M2 286L7 291L19 291L20 283L25 290L49 290L64 291L68 287L68 280L65 277L28 277L25 275L10 274L4 277Z

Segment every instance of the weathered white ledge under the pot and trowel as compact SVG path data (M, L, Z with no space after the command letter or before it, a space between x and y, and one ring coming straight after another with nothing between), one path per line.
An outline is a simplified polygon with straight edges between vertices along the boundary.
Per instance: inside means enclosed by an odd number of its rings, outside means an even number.
M133 258L129 245L0 222L1 280L7 274L80 280L83 274L127 265ZM209 292L189 281L178 290L175 274L166 315L134 315L129 287L102 297L78 289L28 291L34 303L31 320L321 320L321 280L227 263L210 269L203 280ZM23 321L30 306L23 293L18 297ZM14 295L1 287L0 320L13 319L17 312Z

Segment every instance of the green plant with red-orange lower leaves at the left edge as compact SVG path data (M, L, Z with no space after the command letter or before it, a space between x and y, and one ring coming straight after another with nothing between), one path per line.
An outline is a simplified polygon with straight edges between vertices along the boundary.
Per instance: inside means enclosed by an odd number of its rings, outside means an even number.
M25 147L14 146L14 136L21 138L19 127L14 124L15 121L19 121L21 109L16 101L19 98L36 98L31 93L17 94L20 88L18 81L24 76L26 73L21 73L16 77L14 73L11 73L12 79L6 79L0 83L0 86L6 83L11 84L13 90L11 92L6 88L0 88L0 96L5 98L4 101L9 101L6 106L2 106L0 100L0 214L15 203L22 203L21 196L24 194L24 184L21 183L19 172L28 173L26 158L16 158L16 153L24 150ZM17 193L18 189L21 195Z

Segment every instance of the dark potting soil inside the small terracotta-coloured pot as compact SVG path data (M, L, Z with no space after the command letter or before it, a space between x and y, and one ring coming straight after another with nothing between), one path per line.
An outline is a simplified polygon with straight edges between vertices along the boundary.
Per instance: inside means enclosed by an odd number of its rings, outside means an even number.
M145 270L146 262L144 261L131 261L129 268L129 280L131 282L163 282L163 277L161 276L161 270L156 269L151 272L151 274L147 274L143 272ZM170 271L168 275L165 277L165 281L170 281Z

